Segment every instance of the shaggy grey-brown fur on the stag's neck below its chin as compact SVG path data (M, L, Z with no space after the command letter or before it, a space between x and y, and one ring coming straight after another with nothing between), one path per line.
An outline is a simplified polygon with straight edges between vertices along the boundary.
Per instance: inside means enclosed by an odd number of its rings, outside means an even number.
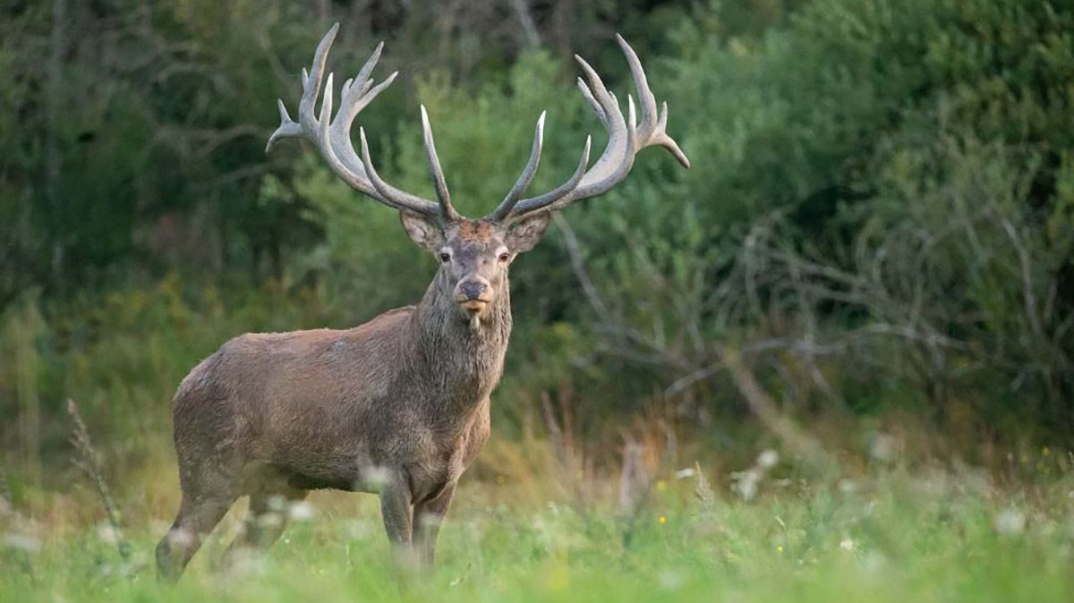
M459 311L451 283L437 273L415 312L418 356L432 391L426 403L460 418L499 381L511 336L511 295L504 276L493 302L474 325Z

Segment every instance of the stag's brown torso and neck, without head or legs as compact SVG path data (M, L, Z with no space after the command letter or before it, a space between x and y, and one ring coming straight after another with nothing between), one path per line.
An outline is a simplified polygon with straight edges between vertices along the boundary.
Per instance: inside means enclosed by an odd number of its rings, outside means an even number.
M437 308L437 297L434 283L420 306L355 328L226 343L176 394L184 481L237 471L238 495L379 491L380 474L394 470L407 476L416 502L454 483L488 437L510 309L505 299L503 317L475 330L454 308ZM200 453L208 451L234 467L205 467Z

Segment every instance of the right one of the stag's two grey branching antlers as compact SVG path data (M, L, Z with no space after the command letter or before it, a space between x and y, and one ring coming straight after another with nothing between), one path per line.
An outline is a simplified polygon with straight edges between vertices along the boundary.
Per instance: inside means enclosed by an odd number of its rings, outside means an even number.
M623 118L623 112L620 111L615 95L608 91L597 72L584 59L575 55L575 59L581 65L585 78L589 80L586 85L585 80L579 77L578 87L582 91L582 97L593 108L597 119L608 130L608 146L600 155L600 159L586 171L592 142L592 137L586 137L578 168L566 182L545 194L520 201L519 197L529 185L537 171L537 164L540 162L545 127L545 114L541 114L537 121L534 146L525 170L499 206L487 217L488 220L510 222L528 214L562 209L578 200L604 194L626 177L634 165L635 156L645 147L662 146L668 149L683 167L690 167L686 155L665 131L668 117L667 103L663 103L659 113L657 113L656 97L649 89L649 80L638 55L626 43L626 40L623 40L622 35L615 34L615 40L619 41L620 47L626 55L627 63L630 65L630 73L638 91L638 101L641 104L641 123L637 123L634 98L627 95L629 109L629 121L627 121Z

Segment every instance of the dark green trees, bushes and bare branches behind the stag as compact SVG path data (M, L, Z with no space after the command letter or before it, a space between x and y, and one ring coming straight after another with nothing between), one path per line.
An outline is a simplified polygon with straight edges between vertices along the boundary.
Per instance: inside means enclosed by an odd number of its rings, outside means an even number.
M69 396L110 471L169 467L171 395L228 338L420 296L435 267L394 212L304 144L263 151L335 20L337 74L379 40L377 77L402 72L359 118L381 172L432 193L423 102L464 214L509 188L541 109L535 190L585 132L603 145L570 57L625 92L616 31L693 160L643 152L516 263L497 438L597 465L624 442L853 456L895 435L910 456L997 468L1074 443L1068 2L3 0L16 497L63 486Z

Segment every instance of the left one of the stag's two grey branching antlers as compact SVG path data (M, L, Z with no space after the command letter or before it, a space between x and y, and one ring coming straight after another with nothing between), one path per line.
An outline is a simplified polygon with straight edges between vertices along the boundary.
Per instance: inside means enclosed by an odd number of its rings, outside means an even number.
M302 70L302 100L299 102L297 122L291 120L287 107L284 106L284 101L278 101L280 124L268 138L265 152L272 150L281 138L306 138L317 147L336 176L339 176L351 188L395 209L432 216L441 222L456 220L459 214L451 206L451 197L448 194L444 172L440 170L440 162L436 157L433 131L430 128L424 106L421 107L421 120L425 136L425 151L429 155L429 167L436 186L439 203L402 191L383 181L373 168L369 148L365 142L365 132L362 129L359 129L362 139L361 160L354 152L354 146L350 139L350 128L354 118L398 75L398 72L392 73L376 86L369 78L373 68L376 67L377 60L380 58L380 50L384 47L383 42L377 45L358 75L344 82L339 95L339 111L336 112L335 119L332 119L333 74L330 73L328 78L324 78L324 65L328 62L329 49L332 47L332 42L335 41L338 31L339 24L333 25L332 29L321 39L320 44L317 45L309 72L307 73L305 69ZM320 94L322 79L325 80L324 98L321 101L320 117L317 117L314 115L314 105Z

